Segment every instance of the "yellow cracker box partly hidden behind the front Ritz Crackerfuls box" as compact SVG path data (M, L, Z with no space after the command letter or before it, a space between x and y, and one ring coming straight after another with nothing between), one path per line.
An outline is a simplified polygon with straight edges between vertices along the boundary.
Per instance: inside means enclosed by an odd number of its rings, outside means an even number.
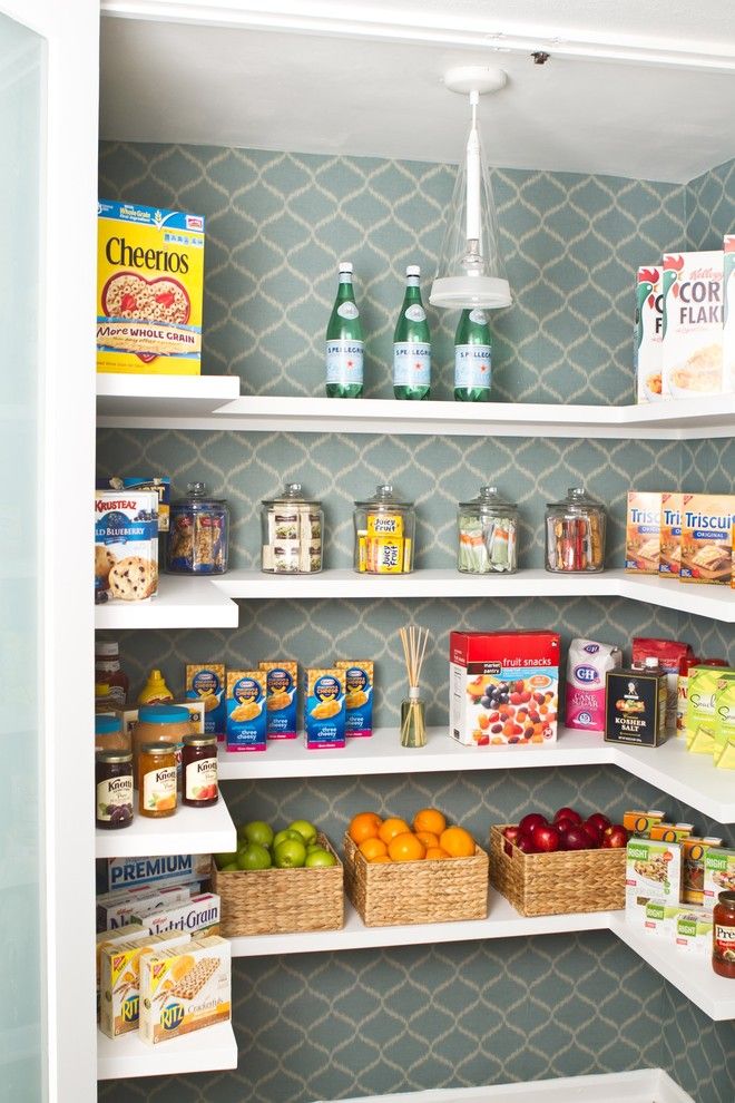
M140 957L146 951L182 946L190 935L168 931L133 938L104 949L99 959L99 1028L108 1038L138 1029L140 1015Z

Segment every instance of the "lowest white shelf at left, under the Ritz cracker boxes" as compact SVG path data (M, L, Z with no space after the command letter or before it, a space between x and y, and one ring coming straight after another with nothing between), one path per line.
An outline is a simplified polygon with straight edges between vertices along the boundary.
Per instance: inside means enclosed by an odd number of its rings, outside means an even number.
M108 1038L97 1031L97 1078L171 1076L237 1067L237 1042L232 1023L217 1023L182 1037L146 1045L137 1033Z

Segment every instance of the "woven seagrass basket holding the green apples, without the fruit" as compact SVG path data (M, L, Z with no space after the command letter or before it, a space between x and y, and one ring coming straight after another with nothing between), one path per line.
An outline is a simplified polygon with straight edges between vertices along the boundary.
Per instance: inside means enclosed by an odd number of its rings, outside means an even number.
M317 841L336 866L223 872L212 862L212 887L222 898L220 934L287 935L344 926L344 867L324 834Z

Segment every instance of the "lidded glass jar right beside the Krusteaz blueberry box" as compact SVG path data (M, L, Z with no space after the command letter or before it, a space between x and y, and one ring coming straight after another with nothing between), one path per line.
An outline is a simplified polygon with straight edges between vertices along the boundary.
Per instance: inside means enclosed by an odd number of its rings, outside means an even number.
M183 575L224 575L229 544L229 509L210 498L204 482L189 482L188 496L171 502L166 569Z

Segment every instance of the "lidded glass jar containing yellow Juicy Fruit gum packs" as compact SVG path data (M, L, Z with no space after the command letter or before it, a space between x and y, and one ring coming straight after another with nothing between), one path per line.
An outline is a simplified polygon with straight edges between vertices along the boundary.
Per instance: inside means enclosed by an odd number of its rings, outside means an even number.
M355 501L355 570L370 575L401 575L413 570L415 511L412 501L399 501L389 484L372 498Z

